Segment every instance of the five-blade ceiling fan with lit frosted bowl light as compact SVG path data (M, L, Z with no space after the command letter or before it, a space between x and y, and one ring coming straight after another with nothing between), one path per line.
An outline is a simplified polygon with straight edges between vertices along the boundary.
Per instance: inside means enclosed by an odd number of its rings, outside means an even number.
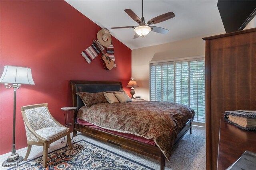
M144 37L145 35L148 35L150 31L154 31L156 33L162 33L166 34L169 32L168 29L164 29L161 27L156 27L156 26L150 26L155 23L160 23L162 21L169 20L171 18L174 18L174 13L173 12L167 12L165 14L162 14L160 16L157 16L155 18L152 18L151 20L148 21L148 23L145 23L144 16L143 16L143 0L142 0L142 17L139 18L132 10L126 9L124 10L130 18L132 18L134 21L136 21L139 25L138 26L125 26L125 27L112 27L112 29L116 28L134 28L134 31L136 32L134 35L134 39L138 38L139 36Z

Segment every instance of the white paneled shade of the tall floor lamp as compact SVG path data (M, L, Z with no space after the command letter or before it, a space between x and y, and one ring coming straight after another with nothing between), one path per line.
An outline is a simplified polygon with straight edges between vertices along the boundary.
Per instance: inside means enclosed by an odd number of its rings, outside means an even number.
M21 66L4 66L4 72L0 78L0 83L35 85L32 78L31 68Z

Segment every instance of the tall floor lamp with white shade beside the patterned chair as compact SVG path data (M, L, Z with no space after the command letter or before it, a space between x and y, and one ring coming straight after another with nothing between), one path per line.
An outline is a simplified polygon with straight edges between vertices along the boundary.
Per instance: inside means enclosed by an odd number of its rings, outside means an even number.
M2 167L10 167L20 163L23 160L22 156L16 153L15 148L15 121L16 121L16 90L20 88L21 84L34 84L31 68L21 66L4 66L4 72L0 78L0 83L4 83L6 88L13 88L13 129L12 129L12 154L8 156L2 164ZM11 83L12 85L8 85Z

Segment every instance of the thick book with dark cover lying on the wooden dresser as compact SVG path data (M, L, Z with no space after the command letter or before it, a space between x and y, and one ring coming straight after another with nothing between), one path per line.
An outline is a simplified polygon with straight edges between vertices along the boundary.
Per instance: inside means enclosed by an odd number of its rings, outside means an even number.
M256 111L237 110L225 111L225 119L229 123L236 125L247 131L256 130Z

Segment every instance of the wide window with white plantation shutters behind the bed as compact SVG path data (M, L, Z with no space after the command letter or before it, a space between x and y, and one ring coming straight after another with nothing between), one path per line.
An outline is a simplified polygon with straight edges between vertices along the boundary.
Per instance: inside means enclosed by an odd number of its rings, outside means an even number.
M188 105L205 123L204 59L150 64L150 100Z

